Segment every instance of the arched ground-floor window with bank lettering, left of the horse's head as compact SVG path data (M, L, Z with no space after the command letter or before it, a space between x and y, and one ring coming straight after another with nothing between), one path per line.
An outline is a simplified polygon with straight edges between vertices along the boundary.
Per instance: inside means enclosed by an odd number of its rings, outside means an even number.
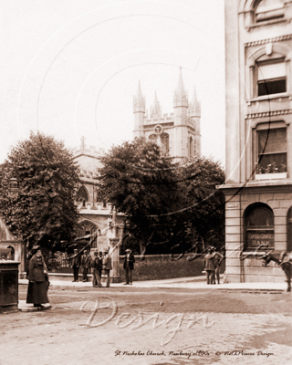
M274 214L264 203L249 205L245 210L245 249L274 248Z

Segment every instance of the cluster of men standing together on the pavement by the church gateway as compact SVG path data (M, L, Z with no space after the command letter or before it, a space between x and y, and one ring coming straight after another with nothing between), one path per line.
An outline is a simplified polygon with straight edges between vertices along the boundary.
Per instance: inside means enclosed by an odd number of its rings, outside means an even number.
M110 270L112 269L112 265L108 249L104 252L95 251L92 255L89 255L88 249L84 251L83 255L79 255L78 249L75 249L70 259L70 266L73 268L73 282L79 280L79 269L81 269L83 282L88 281L90 271L92 275L92 286L102 287L101 272L104 270L107 276L107 287L110 287Z

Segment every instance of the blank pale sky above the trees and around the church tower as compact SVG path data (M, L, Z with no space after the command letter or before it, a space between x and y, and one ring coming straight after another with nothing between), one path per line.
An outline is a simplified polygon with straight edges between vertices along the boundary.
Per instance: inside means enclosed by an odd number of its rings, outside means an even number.
M202 105L202 154L224 165L224 0L0 0L0 163L30 130L68 148L132 139L141 81L173 111L179 69Z

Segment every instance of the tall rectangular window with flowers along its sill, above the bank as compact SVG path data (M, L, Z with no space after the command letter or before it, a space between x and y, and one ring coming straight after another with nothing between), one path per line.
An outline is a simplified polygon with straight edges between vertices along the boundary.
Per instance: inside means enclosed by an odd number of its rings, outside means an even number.
M257 172L287 172L287 128L257 130Z

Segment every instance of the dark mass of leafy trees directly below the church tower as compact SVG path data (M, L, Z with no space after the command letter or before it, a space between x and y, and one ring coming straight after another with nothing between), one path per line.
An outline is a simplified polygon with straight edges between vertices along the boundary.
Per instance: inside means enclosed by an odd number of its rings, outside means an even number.
M127 230L148 253L192 251L224 241L224 182L220 164L194 158L172 162L157 144L124 142L102 158L100 199L127 217Z

